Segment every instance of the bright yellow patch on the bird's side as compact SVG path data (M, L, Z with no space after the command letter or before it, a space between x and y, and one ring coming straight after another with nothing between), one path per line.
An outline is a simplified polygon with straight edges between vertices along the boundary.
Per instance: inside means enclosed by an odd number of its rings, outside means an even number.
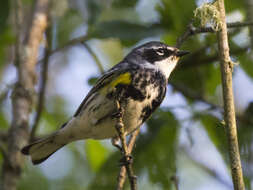
M111 81L108 85L101 89L102 94L107 94L109 91L113 90L115 86L118 84L130 84L131 83L131 74L130 73L123 73Z

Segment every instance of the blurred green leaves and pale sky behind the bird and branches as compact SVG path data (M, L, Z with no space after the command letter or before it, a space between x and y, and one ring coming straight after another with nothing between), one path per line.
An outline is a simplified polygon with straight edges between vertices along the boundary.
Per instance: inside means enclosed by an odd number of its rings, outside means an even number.
M48 134L69 119L94 80L100 76L101 68L91 51L106 70L138 44L161 40L175 45L193 18L194 9L202 2L53 1L52 48L62 47L71 39L83 35L87 41L86 46L77 44L51 55L46 101L37 135ZM23 3L27 10L33 5L32 0L24 0ZM245 2L227 0L225 3L229 22L246 20ZM11 1L3 1L0 6L2 133L10 126L10 94L16 80L13 14ZM229 31L231 56L239 63L234 69L239 146L246 187L251 189L253 44L250 44L248 28ZM43 46L42 42L42 49ZM191 51L191 54L180 61L171 75L166 99L142 126L133 151L139 189L175 189L175 176L179 180L179 189L231 189L216 35L195 35L183 44L182 49ZM41 51L38 60L43 56ZM41 67L42 63L39 63L38 72ZM119 158L109 140L75 142L39 166L33 166L27 160L18 189L114 189Z

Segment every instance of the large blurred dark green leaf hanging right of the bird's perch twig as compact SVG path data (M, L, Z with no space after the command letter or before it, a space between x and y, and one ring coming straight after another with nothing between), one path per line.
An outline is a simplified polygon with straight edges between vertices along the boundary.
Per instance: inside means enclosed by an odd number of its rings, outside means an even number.
M148 169L150 182L171 189L170 178L176 175L176 150L179 124L168 110L157 110L147 122L148 133L137 143L135 166Z

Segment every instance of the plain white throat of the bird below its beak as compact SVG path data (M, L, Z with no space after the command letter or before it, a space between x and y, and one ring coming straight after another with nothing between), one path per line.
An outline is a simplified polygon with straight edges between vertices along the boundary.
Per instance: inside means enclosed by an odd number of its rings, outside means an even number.
M176 67L177 61L178 59L167 58L162 61L157 61L155 64L165 74L166 78L168 79L170 76L170 73Z

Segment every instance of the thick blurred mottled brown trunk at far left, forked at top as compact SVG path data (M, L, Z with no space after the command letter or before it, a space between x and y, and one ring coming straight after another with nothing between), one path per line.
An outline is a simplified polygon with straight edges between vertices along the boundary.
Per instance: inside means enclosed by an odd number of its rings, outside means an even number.
M48 0L37 0L33 22L29 28L27 41L22 42L23 24L22 1L15 1L16 13L16 57L18 81L12 93L12 123L8 131L8 161L3 165L3 189L16 190L20 178L24 157L20 149L27 144L29 115L32 109L34 85L36 83L35 66L38 48L47 26Z

